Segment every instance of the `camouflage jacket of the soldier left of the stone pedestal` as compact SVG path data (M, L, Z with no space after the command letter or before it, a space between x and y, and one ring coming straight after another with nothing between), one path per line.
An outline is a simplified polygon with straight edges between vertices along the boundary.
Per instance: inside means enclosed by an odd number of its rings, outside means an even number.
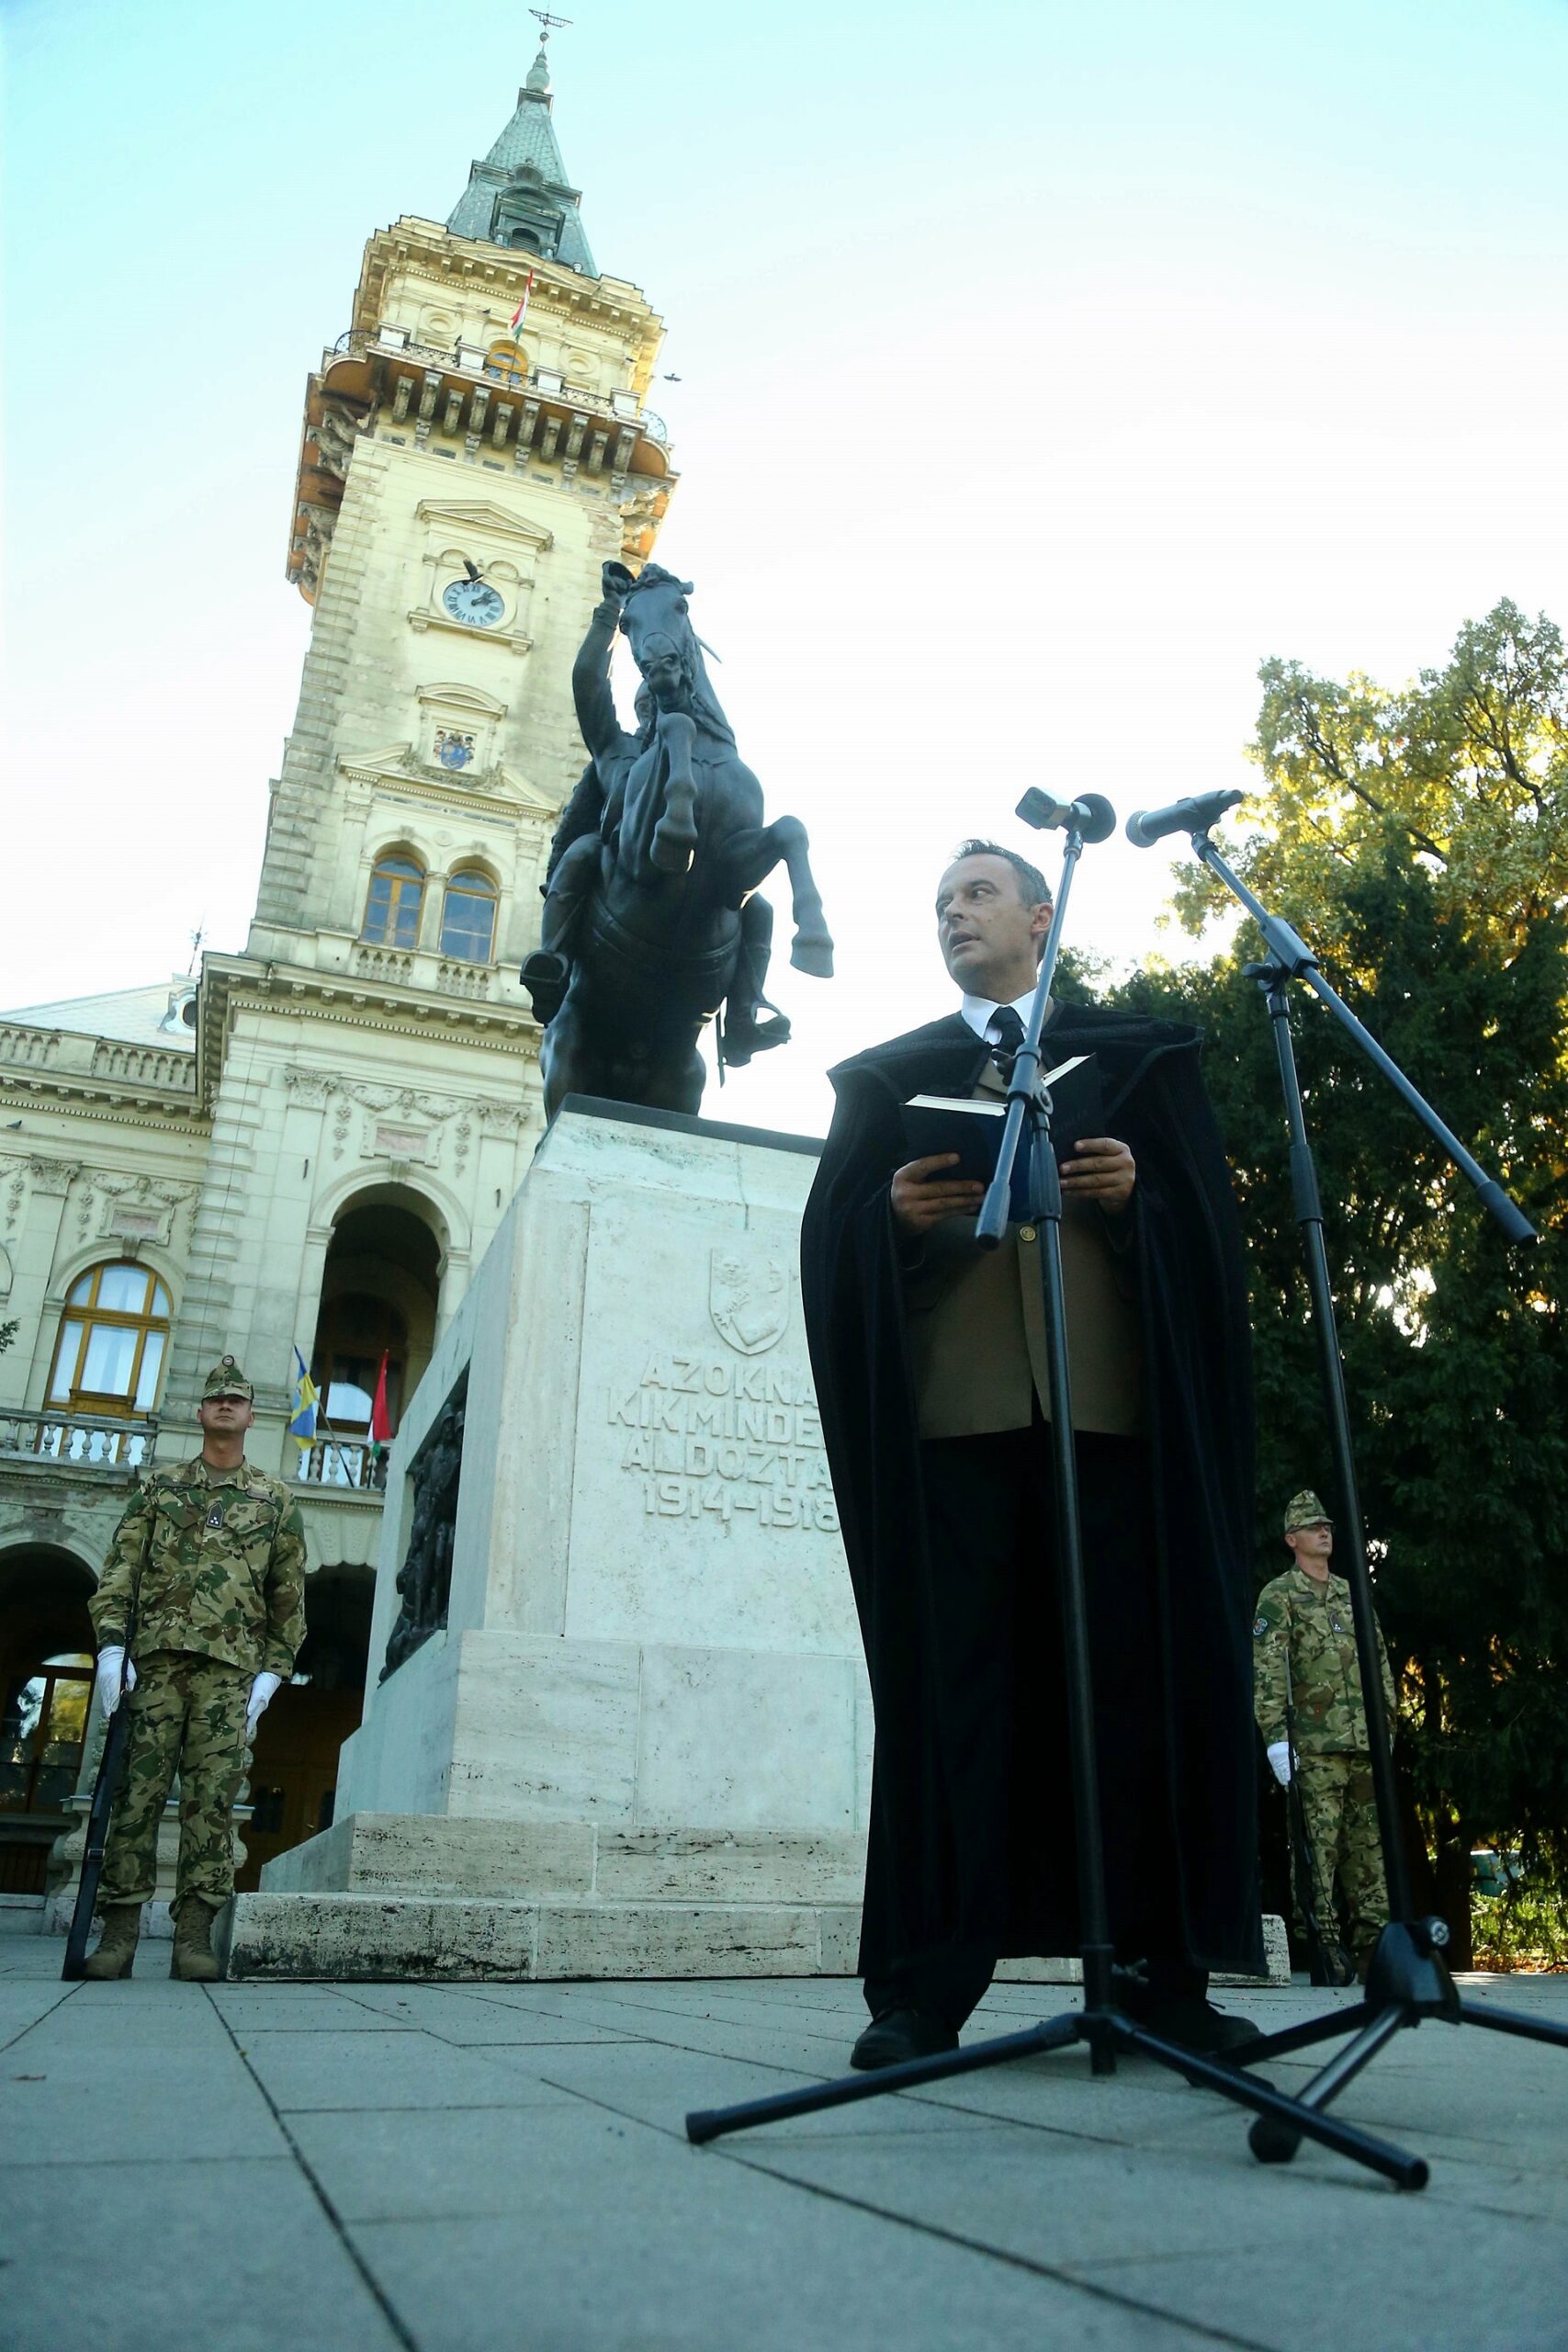
M252 1672L292 1675L306 1637L306 1529L282 1479L202 1456L153 1470L125 1505L89 1599L99 1649L188 1649Z

